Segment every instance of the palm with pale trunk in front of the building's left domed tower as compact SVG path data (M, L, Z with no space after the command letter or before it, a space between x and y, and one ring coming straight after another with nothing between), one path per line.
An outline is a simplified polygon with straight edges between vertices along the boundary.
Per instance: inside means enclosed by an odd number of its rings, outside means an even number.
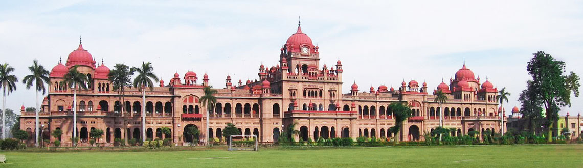
M71 67L69 72L63 77L63 81L59 85L73 86L73 146L77 146L75 143L75 138L77 137L77 90L83 88L87 90L86 83L89 83L89 79L86 74L80 73L77 70L78 65Z

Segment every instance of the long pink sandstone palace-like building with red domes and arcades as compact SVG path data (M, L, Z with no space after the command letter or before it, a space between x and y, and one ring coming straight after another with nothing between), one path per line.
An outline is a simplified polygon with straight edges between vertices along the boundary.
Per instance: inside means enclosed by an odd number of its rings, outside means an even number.
M59 61L51 70L52 85L40 112L40 123L45 124L44 137L50 137L52 130L61 129L62 143L71 145L73 92L68 86L59 85L59 81L75 65L90 78L86 84L89 90L78 91L75 102L79 145L88 145L92 128L104 131L105 135L98 140L104 145L112 145L114 138L140 139L142 131L146 131L146 138L173 138L175 143L183 145L192 141L184 136L186 127L201 129L200 139L204 140L204 136L222 137L226 123L235 124L242 134L257 135L262 143L278 141L279 133L290 123L297 123L296 129L301 132L296 140L392 137L387 133L395 124L391 110L387 109L392 102L406 102L413 109L413 117L405 121L399 135L401 140L423 140L423 134L439 125L440 108L434 102L438 90L447 93L448 101L441 115L444 127L457 130L454 135L479 130L500 133L497 88L487 79L480 83L480 78L475 78L465 64L455 73L455 78L449 79L449 85L442 81L433 91L426 83L403 81L398 88L381 85L366 92L354 83L350 92L344 93L342 62L320 66L318 46L312 44L300 26L280 50L279 65L261 65L257 80L231 81L227 76L224 88L216 89L219 93L215 95L217 103L213 112L206 115L199 98L203 95L202 88L208 85L208 75L203 75L202 83L194 72L182 77L176 73L169 83L160 80L159 87L146 91L145 103L141 91L128 88L120 103L107 80L110 69L103 61L96 64L79 44L65 65ZM125 106L127 112L121 112L119 105ZM141 126L143 105L146 106L146 130ZM20 127L34 137L34 112L22 110ZM172 134L162 135L161 127L171 128ZM207 129L209 134L204 131ZM27 142L34 143L32 138Z

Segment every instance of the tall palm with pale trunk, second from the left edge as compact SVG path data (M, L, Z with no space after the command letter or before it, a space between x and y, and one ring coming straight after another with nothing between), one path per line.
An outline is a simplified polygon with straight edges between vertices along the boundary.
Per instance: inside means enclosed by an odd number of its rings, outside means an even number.
M30 89L33 86L36 87L36 106L35 107L35 115L34 115L34 145L38 146L38 91L43 91L43 95L45 94L45 87L44 84L50 84L51 80L48 78L48 70L44 69L42 65L38 64L38 60L33 60L33 65L29 66L30 73L29 75L25 76L22 79L22 83L26 84L26 89Z

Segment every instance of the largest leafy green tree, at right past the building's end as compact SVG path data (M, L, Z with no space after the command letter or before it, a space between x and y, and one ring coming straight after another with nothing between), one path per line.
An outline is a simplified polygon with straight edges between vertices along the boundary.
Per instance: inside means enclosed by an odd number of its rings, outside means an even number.
M562 106L571 106L571 92L579 96L579 77L571 72L565 72L565 62L555 60L553 56L539 51L526 65L528 74L532 76L531 92L536 99L542 101L545 107L547 123L549 123L547 141L552 141L553 124L559 119L559 110Z

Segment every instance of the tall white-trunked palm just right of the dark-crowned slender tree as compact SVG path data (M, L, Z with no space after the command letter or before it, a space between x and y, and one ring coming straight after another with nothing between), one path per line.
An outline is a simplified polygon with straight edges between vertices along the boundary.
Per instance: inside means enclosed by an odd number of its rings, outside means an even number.
M158 77L154 74L154 67L150 62L142 62L141 67L132 67L132 72L138 73L134 79L134 87L138 87L142 91L142 141L146 137L146 87L154 90L154 83L152 79L158 81Z

